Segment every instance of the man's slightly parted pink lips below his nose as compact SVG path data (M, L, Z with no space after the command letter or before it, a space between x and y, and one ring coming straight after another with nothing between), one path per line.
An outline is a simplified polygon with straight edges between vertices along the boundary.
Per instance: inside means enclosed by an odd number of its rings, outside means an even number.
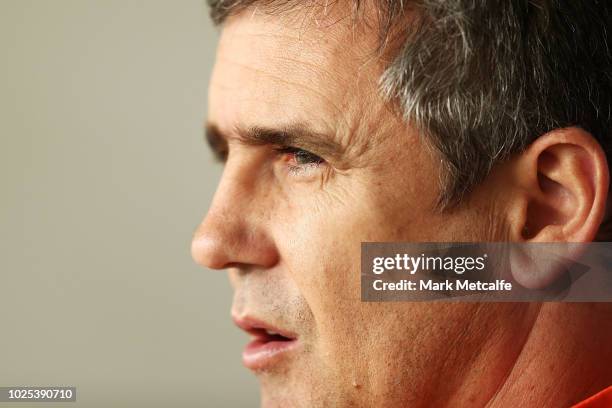
M297 335L275 327L253 317L233 318L236 326L251 336L251 341L242 352L242 363L251 370L272 367L295 349L299 342ZM268 334L277 333L277 335Z

